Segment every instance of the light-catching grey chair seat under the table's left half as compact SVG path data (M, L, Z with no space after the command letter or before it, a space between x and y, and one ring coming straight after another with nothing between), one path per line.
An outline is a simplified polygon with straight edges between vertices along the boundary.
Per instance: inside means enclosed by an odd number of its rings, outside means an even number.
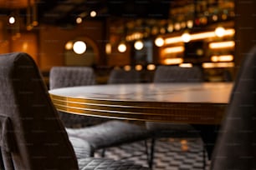
M66 128L71 137L83 138L95 149L114 147L122 143L145 140L150 133L130 122L109 121L88 128Z

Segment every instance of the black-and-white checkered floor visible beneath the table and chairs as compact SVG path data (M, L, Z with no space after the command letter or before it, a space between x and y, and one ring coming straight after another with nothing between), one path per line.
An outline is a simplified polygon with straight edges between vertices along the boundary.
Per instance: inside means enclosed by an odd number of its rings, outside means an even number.
M150 141L147 146L150 147ZM96 152L100 157L100 151ZM125 144L105 151L106 158L131 161L148 167L145 143ZM209 161L207 161L206 169ZM200 138L161 138L156 141L153 170L197 170L203 169L202 141Z

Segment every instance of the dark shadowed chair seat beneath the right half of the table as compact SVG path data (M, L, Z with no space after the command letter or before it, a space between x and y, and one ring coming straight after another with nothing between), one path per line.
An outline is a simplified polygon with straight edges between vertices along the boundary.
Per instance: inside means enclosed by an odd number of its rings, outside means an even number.
M146 122L146 128L157 138L200 138L190 124L171 122Z

